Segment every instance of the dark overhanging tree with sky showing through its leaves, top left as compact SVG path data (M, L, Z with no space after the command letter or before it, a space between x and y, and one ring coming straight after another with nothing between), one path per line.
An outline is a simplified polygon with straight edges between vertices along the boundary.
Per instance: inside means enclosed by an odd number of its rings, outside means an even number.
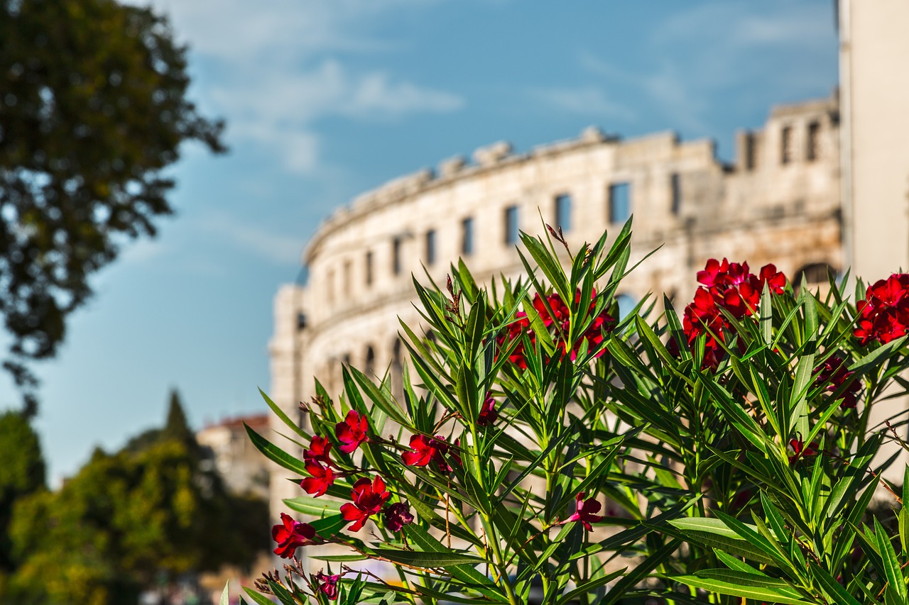
M185 47L151 9L0 0L0 314L5 368L34 408L30 360L55 354L94 273L172 212L162 171L223 124L186 97Z

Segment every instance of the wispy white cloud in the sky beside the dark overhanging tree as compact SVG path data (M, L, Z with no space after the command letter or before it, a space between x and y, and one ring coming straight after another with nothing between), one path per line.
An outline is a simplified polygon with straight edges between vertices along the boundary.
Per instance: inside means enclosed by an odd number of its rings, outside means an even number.
M252 142L285 169L314 173L322 145L317 122L328 116L362 121L464 106L456 94L408 82L383 70L357 69L356 58L395 44L372 31L396 11L435 0L155 0L192 53L214 64L199 91L227 119L235 146ZM344 56L342 59L339 56Z

